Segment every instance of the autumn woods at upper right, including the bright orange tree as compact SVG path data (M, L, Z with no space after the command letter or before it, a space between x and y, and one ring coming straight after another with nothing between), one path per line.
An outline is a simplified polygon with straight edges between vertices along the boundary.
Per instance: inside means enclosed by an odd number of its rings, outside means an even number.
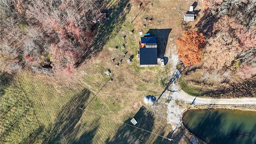
M206 0L203 16L195 28L202 33L202 51L198 39L184 34L176 40L179 59L186 66L198 64L210 70L232 71L242 79L256 74L256 0ZM200 45L200 43L197 43ZM187 48L187 46L190 46Z

